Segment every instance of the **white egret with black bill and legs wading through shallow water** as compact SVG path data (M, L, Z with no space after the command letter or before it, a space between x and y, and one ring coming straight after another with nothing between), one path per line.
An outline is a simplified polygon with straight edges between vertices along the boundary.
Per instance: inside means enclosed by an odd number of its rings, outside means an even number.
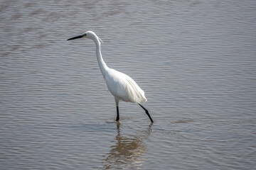
M90 30L82 35L75 36L68 40L75 40L77 38L89 38L94 40L95 42L97 62L99 64L100 71L102 72L102 75L106 81L107 88L110 90L110 93L114 96L114 100L117 106L116 121L119 120L119 101L126 101L138 103L139 106L141 106L144 109L146 115L149 116L149 119L153 123L153 120L149 115L149 111L147 111L146 108L144 108L141 104L146 101L144 91L140 89L138 84L131 77L127 76L127 74L118 72L115 69L110 69L109 67L107 67L107 64L104 62L100 51L100 44L102 40L100 40L100 38Z

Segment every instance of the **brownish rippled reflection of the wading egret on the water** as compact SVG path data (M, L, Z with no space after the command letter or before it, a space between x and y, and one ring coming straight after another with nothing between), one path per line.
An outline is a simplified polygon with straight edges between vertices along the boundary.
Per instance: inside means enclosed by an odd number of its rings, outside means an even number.
M117 122L117 135L114 138L114 145L107 153L103 169L140 169L144 162L146 145L142 141L150 134L151 125L139 135L122 135L120 123Z

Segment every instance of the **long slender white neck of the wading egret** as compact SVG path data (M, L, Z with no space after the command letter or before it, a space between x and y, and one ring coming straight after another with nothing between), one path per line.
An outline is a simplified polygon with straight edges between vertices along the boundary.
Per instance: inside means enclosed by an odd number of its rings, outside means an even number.
M105 75L106 75L108 67L107 67L107 64L104 62L104 60L102 58L102 55L101 55L101 52L100 52L100 40L97 37L94 38L93 40L94 40L95 45L96 45L97 62L99 64L100 71L102 72L102 75L105 79Z

